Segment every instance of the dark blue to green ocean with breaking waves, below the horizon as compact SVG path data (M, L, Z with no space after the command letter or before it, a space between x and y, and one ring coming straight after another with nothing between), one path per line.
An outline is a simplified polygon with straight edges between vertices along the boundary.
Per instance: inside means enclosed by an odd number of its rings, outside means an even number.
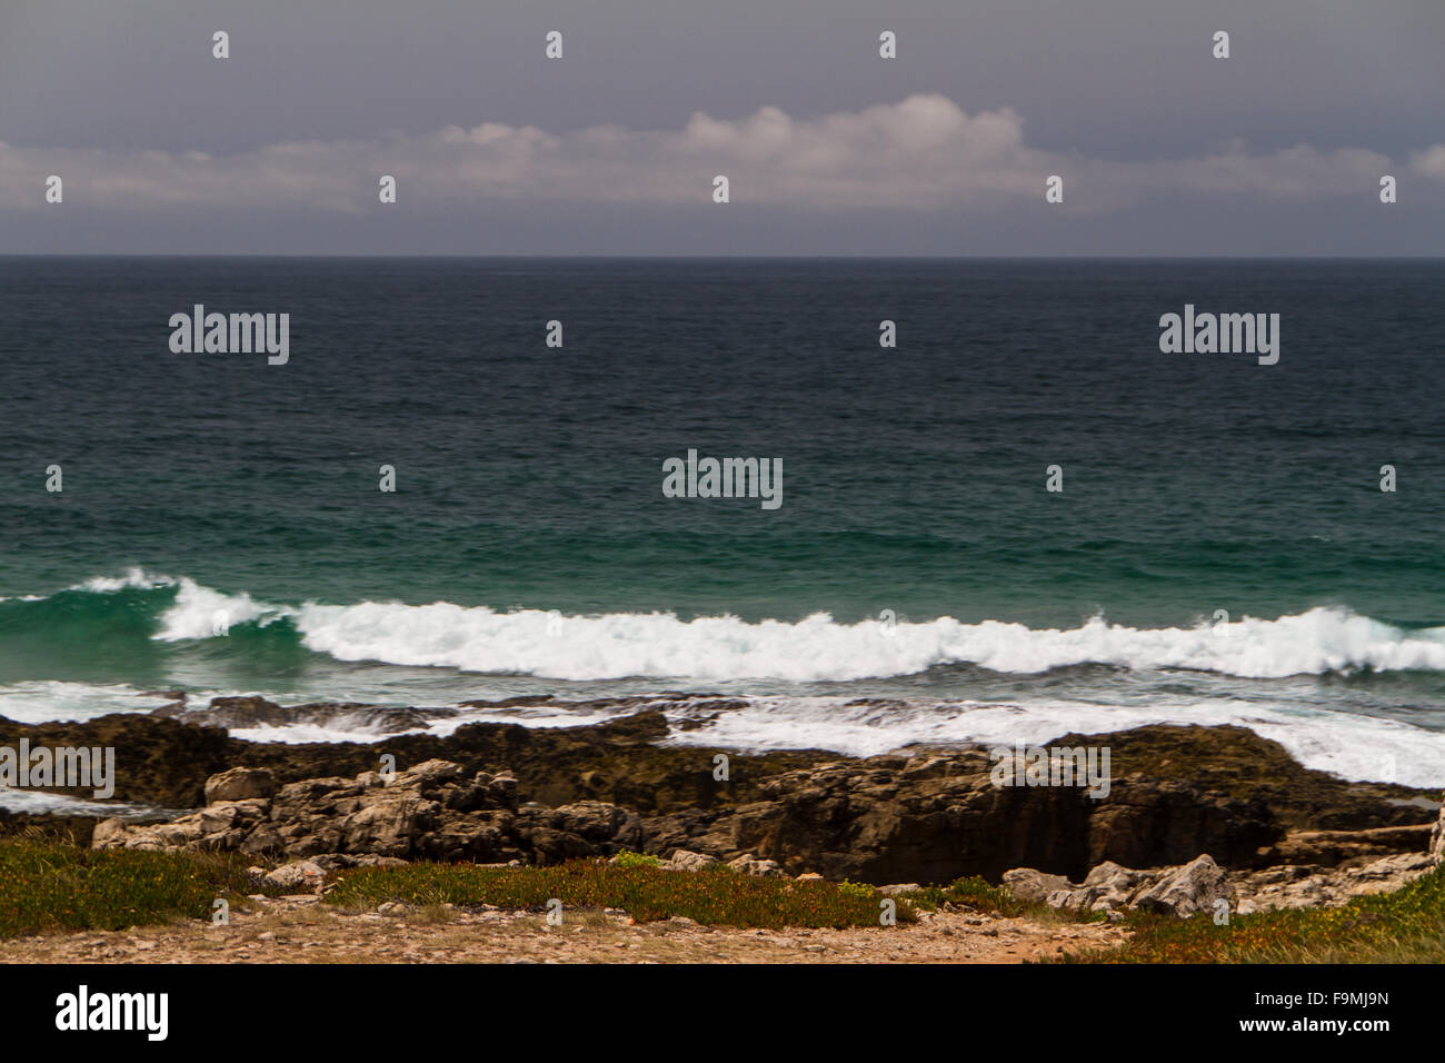
M676 742L850 754L1233 722L1441 785L1442 289L1439 260L4 257L0 714L650 696L701 725ZM197 304L289 314L286 363L172 351ZM1279 362L1163 353L1186 305L1279 314ZM666 496L689 451L780 463L780 505Z

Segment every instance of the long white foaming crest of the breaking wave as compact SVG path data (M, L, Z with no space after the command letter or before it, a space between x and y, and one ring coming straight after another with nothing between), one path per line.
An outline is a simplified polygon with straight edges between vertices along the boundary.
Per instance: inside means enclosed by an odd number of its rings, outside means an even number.
M912 675L971 662L1036 674L1074 664L1131 670L1189 668L1279 678L1358 668L1445 670L1445 629L1406 632L1345 609L1311 609L1274 620L1244 618L1192 628L1130 628L1094 618L1072 629L1022 623L837 623L827 613L796 623L733 616L681 620L669 613L562 618L499 613L448 602L367 602L302 607L305 645L342 661L520 673L559 680L624 677L790 681Z

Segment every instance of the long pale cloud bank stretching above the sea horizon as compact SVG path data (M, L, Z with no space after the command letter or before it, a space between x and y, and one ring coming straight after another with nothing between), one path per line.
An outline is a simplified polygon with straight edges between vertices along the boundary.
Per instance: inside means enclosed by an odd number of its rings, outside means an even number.
M1413 158L1445 178L1445 146ZM1025 143L1012 108L967 114L936 94L896 104L795 119L763 107L743 119L696 113L679 130L594 126L548 133L484 121L376 140L277 143L204 152L49 150L0 143L0 208L43 210L48 174L66 202L101 210L305 207L353 213L376 204L393 174L407 204L483 200L709 202L727 174L736 204L845 210L938 210L1042 202L1043 179L1065 176L1072 208L1120 208L1149 195L1247 194L1305 200L1373 191L1387 156L1363 148L1298 145L1251 153L1225 145L1194 158L1113 162Z

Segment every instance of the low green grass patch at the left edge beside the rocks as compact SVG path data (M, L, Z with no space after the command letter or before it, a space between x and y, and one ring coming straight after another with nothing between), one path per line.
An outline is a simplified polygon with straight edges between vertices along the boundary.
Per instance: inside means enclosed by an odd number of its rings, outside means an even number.
M215 898L249 892L246 862L220 853L0 840L0 939L210 918Z

